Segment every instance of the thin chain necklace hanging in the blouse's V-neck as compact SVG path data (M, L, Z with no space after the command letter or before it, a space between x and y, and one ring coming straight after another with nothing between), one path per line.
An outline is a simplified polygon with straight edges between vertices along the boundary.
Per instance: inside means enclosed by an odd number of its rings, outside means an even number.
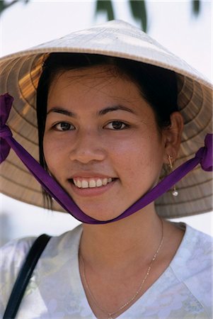
M159 251L161 250L161 247L163 245L163 221L161 220L161 242L159 244L158 249L156 250L154 256L151 259L151 262L149 264L149 267L146 270L146 275L144 276L144 279L142 280L142 283L139 286L139 289L137 289L136 293L134 293L134 296L132 296L132 298L129 299L129 301L127 301L126 303L124 303L122 306L120 306L120 308L118 308L117 310L113 311L112 313L108 313L108 311L104 310L103 308L100 308L100 306L98 305L96 298L93 296L93 293L91 292L91 289L88 286L88 282L86 280L86 274L85 274L85 266L84 266L84 259L81 255L81 251L79 251L79 257L81 258L81 262L82 262L82 276L84 278L84 283L86 285L86 289L88 290L88 293L91 295L91 298L93 299L94 303L96 303L96 306L103 311L103 313L105 313L105 315L108 315L108 319L113 319L113 316L116 315L116 313L119 313L121 310L123 310L124 308L126 308L129 303L132 303L132 301L134 301L135 298L137 298L137 296L139 295L140 291L142 290L142 287L144 286L144 283L147 279L147 277L149 276L149 273L151 271L151 267L152 264L154 263L157 255L159 254Z

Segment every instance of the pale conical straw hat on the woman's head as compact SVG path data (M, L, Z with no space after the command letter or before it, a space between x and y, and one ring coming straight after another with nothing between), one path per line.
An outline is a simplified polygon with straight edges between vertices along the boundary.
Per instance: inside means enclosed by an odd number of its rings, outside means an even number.
M38 159L38 129L35 111L36 88L42 62L50 52L86 52L124 57L176 72L178 106L185 126L175 167L190 159L212 131L212 85L146 33L123 21L110 21L71 33L29 50L0 59L1 94L14 97L8 125L13 137ZM156 201L160 216L175 218L212 210L212 174L200 165L178 182L178 196L171 192ZM1 192L35 206L43 206L41 187L11 150L1 164ZM63 211L54 203L54 210Z

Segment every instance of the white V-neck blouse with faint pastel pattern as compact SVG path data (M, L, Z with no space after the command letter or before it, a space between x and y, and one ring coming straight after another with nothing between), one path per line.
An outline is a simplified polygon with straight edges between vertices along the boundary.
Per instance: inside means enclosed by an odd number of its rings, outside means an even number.
M79 225L51 238L33 272L16 318L96 318L79 274L81 231ZM34 240L33 237L13 240L0 250L0 318ZM211 249L211 237L186 225L180 247L166 271L118 318L211 319Z

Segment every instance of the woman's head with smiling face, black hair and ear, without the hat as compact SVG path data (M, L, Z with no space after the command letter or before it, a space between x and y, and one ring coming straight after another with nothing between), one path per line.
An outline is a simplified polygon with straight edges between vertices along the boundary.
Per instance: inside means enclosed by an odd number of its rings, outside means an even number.
M175 113L175 73L67 53L51 54L43 69L37 94L40 162L88 216L120 216L157 183L166 154L175 158L178 152L183 121Z

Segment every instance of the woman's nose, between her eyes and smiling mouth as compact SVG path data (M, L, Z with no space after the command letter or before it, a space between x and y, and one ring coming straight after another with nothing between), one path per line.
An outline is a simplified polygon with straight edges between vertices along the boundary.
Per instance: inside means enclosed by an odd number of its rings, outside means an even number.
M78 134L71 147L69 159L87 164L92 161L103 161L106 153L100 135L89 130Z

